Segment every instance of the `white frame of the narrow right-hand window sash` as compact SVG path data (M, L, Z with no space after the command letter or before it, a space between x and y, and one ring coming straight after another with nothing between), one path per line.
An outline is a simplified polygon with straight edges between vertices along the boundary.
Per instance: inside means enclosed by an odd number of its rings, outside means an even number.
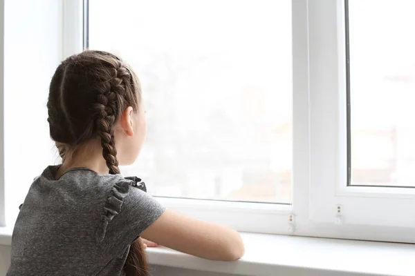
M344 0L309 3L310 221L334 237L415 242L415 189L347 186Z

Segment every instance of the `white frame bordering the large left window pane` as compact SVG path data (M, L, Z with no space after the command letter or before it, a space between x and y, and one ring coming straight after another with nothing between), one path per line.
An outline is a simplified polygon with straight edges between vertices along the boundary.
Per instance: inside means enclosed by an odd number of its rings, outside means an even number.
M64 1L64 55L73 55L76 52L82 51L82 36L84 32L84 19L83 8L86 8L86 1ZM74 14L77 13L76 15ZM296 64L293 64L298 70L296 72L302 72L301 74L294 75L293 78L297 79L295 83L307 82L307 28L306 28L306 0L293 1L293 14L302 13L303 16L293 17L293 39L299 41L295 45L301 47L294 48L293 51L298 52L296 57L301 59L296 60ZM82 16L81 16L82 14ZM75 31L73 31L75 30ZM305 40L304 40L305 39ZM293 154L295 160L302 160L308 158L308 138L304 133L307 132L306 125L308 124L308 115L306 110L308 109L308 103L304 101L308 97L308 88L306 86L294 86L295 90L299 90L293 101L298 101L299 104L294 103L294 112L297 116L294 116L293 122L293 136L297 139L297 144L304 145L302 148L295 148ZM297 107L296 107L297 106ZM295 138L297 137L297 138ZM305 171L307 174L308 167L304 166L304 162L294 162L293 170L296 172ZM297 173L296 175L304 175L304 173ZM308 177L294 177L294 181L307 181ZM158 197L163 205L167 208L173 208L192 215L200 219L216 221L221 224L227 224L236 228L242 232L254 232L254 233L279 233L289 234L293 233L293 217L294 217L294 204L256 204L246 202L230 202L230 201L210 201L203 199L180 199L180 198L168 198ZM295 198L293 198L293 202ZM300 202L301 200L298 200ZM298 204L299 206L299 204Z

